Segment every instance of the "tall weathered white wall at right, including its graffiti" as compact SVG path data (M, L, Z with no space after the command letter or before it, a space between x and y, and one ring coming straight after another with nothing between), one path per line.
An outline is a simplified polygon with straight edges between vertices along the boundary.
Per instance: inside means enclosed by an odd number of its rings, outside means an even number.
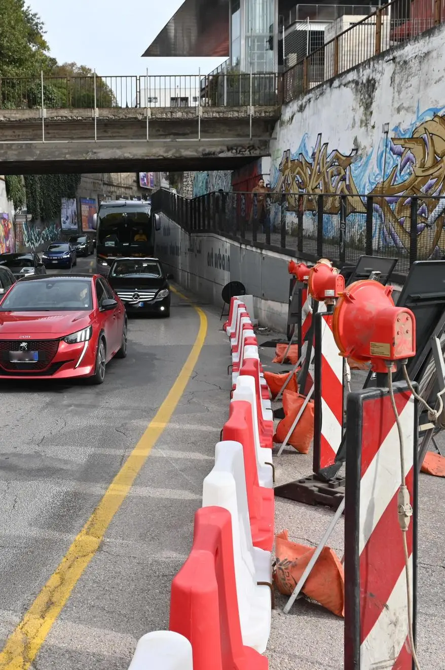
M377 204L374 247L409 249L409 198L445 194L445 25L397 46L283 107L271 140L271 186L294 194L391 194ZM383 124L389 124L386 141ZM385 171L385 174L383 172ZM365 201L350 200L348 235ZM338 221L338 198L328 201ZM445 253L445 202L421 202L420 258Z

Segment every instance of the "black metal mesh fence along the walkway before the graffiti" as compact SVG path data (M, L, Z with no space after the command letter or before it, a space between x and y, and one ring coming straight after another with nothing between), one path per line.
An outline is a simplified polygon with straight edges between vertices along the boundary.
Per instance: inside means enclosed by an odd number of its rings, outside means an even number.
M445 254L445 196L252 194L182 198L161 190L153 208L188 232L216 232L257 247L316 260L355 263L395 257L397 272Z

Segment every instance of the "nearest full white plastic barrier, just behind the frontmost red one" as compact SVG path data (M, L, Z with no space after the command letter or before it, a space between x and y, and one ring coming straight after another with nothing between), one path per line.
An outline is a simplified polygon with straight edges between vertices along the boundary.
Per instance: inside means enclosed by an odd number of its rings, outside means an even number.
M247 505L243 446L218 442L213 470L204 479L202 507L224 507L231 513L233 558L243 644L263 653L271 626L271 553L252 544ZM258 582L263 582L258 586ZM210 669L209 669L210 670Z

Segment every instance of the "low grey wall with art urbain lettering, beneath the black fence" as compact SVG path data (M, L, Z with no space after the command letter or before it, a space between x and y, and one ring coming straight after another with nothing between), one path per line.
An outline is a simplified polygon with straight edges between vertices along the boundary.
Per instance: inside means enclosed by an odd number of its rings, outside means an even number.
M254 296L255 318L263 326L285 330L288 318L289 258L253 249L212 233L188 235L161 214L155 253L175 281L200 299L223 307L221 291L229 281L241 281Z

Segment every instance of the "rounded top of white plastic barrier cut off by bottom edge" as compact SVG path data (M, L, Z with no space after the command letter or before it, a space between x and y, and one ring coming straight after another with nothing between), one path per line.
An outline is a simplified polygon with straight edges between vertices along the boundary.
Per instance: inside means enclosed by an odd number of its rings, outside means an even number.
M193 670L192 645L172 630L147 632L137 643L128 670Z

